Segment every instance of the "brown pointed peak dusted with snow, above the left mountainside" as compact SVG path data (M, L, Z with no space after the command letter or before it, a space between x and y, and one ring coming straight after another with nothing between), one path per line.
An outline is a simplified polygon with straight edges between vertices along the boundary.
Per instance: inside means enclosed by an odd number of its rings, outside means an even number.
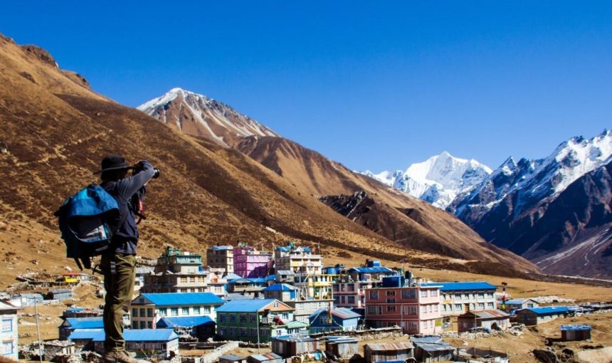
M173 88L137 108L188 135L206 137L223 146L234 146L241 137L251 135L278 136L228 105L181 88Z

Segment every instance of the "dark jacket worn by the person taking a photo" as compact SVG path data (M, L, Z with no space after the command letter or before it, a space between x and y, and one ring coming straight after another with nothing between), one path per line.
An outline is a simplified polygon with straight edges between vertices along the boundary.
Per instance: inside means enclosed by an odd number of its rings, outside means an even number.
M127 213L127 217L121 226L115 232L115 236L112 238L112 243L115 248L115 252L126 253L129 255L136 254L136 246L138 244L138 228L136 226L136 214L132 208L128 207L128 203L132 196L136 194L138 189L142 188L147 181L151 180L155 174L153 166L146 160L140 162L142 166L142 172L138 174L121 179L119 181L108 181L102 184L102 187L108 191L108 194L112 195L117 199L121 216ZM137 206L134 206L137 208ZM117 219L116 223L120 222Z

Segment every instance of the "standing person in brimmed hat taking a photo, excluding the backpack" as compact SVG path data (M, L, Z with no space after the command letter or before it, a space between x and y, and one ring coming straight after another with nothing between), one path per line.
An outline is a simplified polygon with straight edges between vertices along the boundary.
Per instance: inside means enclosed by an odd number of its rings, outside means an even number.
M127 177L132 169L134 174ZM102 183L108 194L119 204L120 216L115 224L117 230L107 252L100 258L100 270L104 275L106 298L104 304L104 361L107 363L137 363L137 360L125 352L123 339L123 315L127 311L134 293L136 278L136 247L138 244L138 229L136 216L139 215L138 198L144 197L144 185L157 177L159 171L146 160L130 166L120 155L109 155L102 159ZM136 198L136 201L134 201Z

